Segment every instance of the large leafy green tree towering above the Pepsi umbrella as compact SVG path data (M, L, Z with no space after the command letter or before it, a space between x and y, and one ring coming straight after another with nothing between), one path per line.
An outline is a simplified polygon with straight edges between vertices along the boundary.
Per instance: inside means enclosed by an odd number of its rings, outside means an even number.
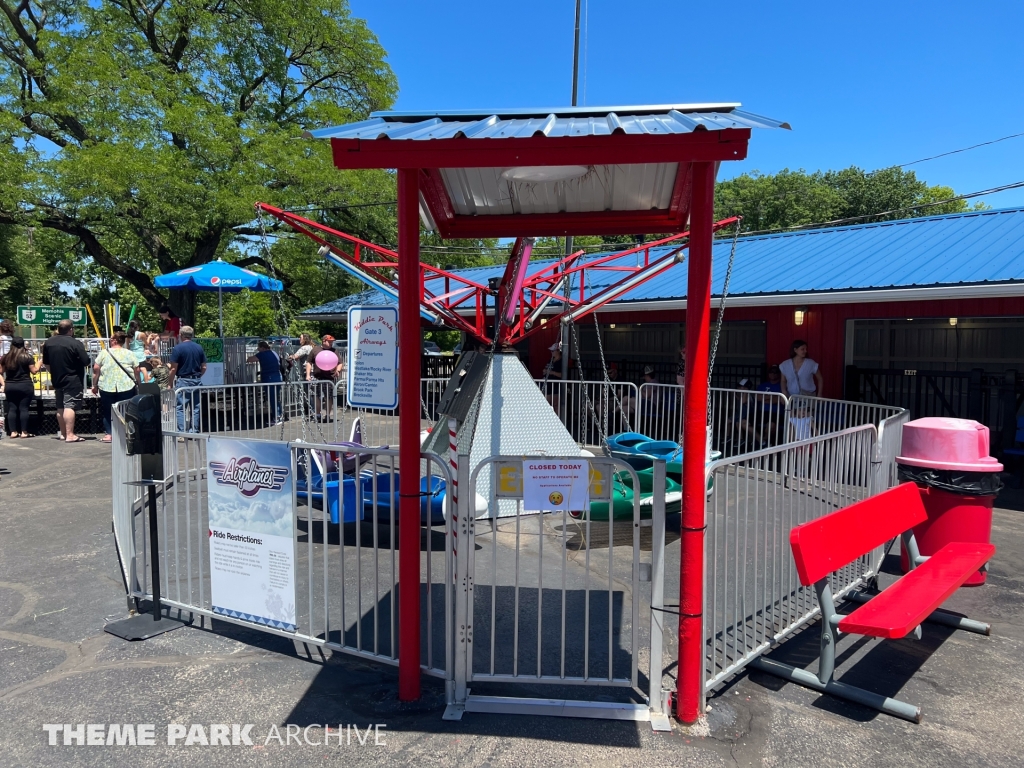
M385 55L344 0L0 0L0 224L62 233L58 272L99 267L153 306L154 274L261 264L232 248L256 201L393 195L301 138L387 109ZM187 319L195 301L170 296Z

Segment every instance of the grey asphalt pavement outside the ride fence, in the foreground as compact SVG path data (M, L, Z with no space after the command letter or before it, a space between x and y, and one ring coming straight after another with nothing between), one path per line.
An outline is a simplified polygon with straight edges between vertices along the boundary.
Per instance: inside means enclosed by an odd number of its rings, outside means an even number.
M0 440L0 765L1020 764L1020 511L995 513L988 584L948 602L991 622L991 637L926 626L921 641L841 641L839 676L921 705L920 725L759 673L738 675L710 699L703 721L671 733L525 716L447 722L437 680L424 678L423 697L401 703L392 667L236 625L203 620L139 643L105 634L106 622L127 614L111 532L110 452L95 440ZM677 536L669 541L666 589L675 602ZM772 656L813 670L817 643L815 626ZM667 682L674 671L669 665ZM74 742L79 725L82 741L104 743L65 745L65 726ZM126 725L136 741L152 725L155 743L106 745L125 738ZM203 744L211 739L228 745Z

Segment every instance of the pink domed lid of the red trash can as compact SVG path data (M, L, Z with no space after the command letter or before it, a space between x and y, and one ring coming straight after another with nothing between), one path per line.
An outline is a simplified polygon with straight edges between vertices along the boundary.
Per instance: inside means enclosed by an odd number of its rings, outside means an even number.
M971 419L928 417L903 425L900 464L965 472L1001 472L988 455L988 427Z

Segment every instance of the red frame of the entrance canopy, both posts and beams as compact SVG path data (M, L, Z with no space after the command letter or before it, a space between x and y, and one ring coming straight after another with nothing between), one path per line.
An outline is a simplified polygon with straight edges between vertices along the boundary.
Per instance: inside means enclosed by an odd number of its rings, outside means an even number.
M552 118L556 116L552 115ZM617 122L615 115L611 114L608 116L609 123L612 118ZM431 124L441 122L436 118L424 120L426 127L423 130L432 130ZM776 127L788 126L776 124ZM420 265L421 191L425 207L444 238L683 232L688 222L679 682L676 696L677 715L687 723L694 722L699 716L702 698L705 451L715 174L719 162L746 157L751 135L746 128L707 128L699 125L684 133L637 130L627 133L615 129L606 135L583 132L583 135L551 137L542 133L521 138L472 138L462 131L442 138L403 139L389 135L331 138L334 163L338 168L395 168L398 171L398 253L381 254L380 250L376 253L387 256L383 261L394 263L393 260L396 260L399 285L420 286L419 291L406 290L398 294L399 353L402 361L399 367L399 408L411 414L419 413L420 408L419 315L425 298ZM441 169L645 163L678 164L668 208L459 215L440 173ZM553 265L554 271L545 278L549 281L549 288L557 282L556 274L560 278L560 272L578 268L578 258L579 255L573 254L559 262L560 266ZM586 268L600 266L591 263ZM554 291L544 288L543 280L538 279L538 283L523 290L531 291L532 297L557 298ZM479 288L474 287L474 290ZM449 296L444 300L456 298L447 291L441 293L442 296L445 294ZM437 296L433 300L435 306L438 302L443 304ZM451 303L449 307L452 307ZM401 466L418 466L419 426L417 419L400 421ZM419 492L416 473L402 473L399 487L399 581L412 584L420 579ZM401 626L398 696L402 700L412 700L420 695L419 590L402 590L398 609Z

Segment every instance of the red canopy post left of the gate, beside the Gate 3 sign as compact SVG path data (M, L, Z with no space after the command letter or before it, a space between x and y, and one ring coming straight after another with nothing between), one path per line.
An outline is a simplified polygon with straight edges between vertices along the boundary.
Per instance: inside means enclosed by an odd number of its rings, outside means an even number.
M420 697L420 189L398 169L398 699Z

